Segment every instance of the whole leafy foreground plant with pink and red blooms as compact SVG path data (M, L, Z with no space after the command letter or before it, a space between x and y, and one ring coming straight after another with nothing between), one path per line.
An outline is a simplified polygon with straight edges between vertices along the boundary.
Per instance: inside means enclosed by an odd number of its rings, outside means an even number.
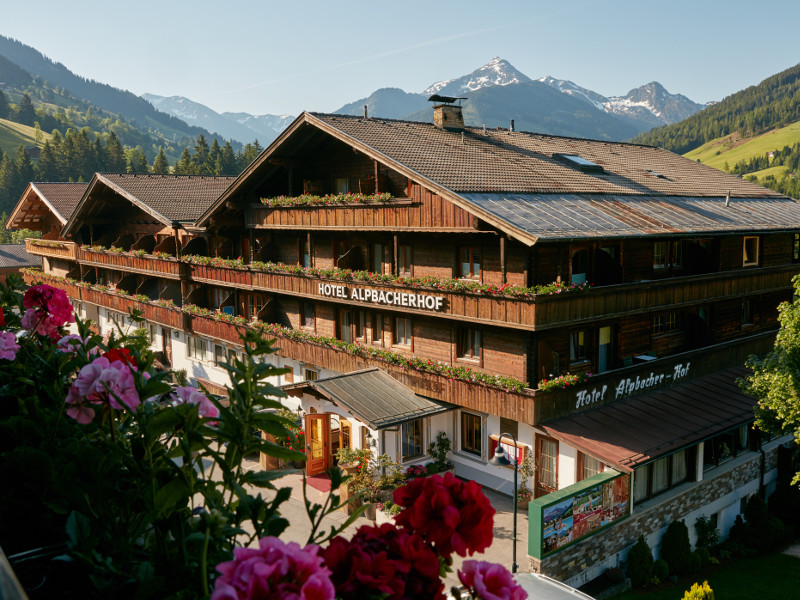
M280 505L291 492L273 483L282 474L242 462L257 452L303 456L249 435L285 437L294 425L262 410L281 408L281 392L264 381L282 372L262 360L271 342L245 332L247 358L227 365L223 404L156 371L144 330L103 342L78 320L77 335L65 335L74 317L55 288L26 294L35 322L18 316L25 302L10 281L0 285L0 545L10 555L58 548L43 554L66 560L23 563L45 577L41 595L205 598L214 587L216 599L444 598L452 554L491 543L488 500L450 474L400 488L396 524L337 537L362 512L323 529L341 507L338 470L323 506L305 502L307 545L285 543ZM489 593L502 577L484 580Z

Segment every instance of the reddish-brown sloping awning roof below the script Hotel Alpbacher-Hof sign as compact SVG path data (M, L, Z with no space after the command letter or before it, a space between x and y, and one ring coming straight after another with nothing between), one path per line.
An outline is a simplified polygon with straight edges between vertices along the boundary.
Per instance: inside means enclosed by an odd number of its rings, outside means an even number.
M736 383L747 373L745 367L719 371L542 427L548 435L630 472L640 464L753 421L756 400Z

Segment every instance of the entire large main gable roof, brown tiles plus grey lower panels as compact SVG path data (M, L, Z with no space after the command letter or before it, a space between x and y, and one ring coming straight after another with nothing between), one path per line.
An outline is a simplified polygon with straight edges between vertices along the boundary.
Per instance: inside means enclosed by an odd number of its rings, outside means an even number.
M309 127L527 244L800 226L800 204L791 198L661 148L321 113L295 119L198 222L234 195L247 202L262 169L280 164L273 159L284 148L287 156L296 151L296 134L297 147L307 145Z

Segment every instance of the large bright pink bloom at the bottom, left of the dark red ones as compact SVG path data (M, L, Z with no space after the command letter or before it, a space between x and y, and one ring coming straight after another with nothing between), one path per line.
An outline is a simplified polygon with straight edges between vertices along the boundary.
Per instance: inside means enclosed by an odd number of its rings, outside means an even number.
M222 573L211 600L334 600L330 571L317 554L319 546L300 548L264 537L258 549L236 548L234 559L217 565Z

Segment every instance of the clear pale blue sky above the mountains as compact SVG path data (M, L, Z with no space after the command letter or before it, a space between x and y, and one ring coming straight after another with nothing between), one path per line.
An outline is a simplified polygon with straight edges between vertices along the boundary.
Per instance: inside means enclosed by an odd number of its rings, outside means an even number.
M655 80L696 102L800 62L797 0L5 4L0 34L73 72L219 112L333 111L381 87L420 92L494 56L606 96Z

